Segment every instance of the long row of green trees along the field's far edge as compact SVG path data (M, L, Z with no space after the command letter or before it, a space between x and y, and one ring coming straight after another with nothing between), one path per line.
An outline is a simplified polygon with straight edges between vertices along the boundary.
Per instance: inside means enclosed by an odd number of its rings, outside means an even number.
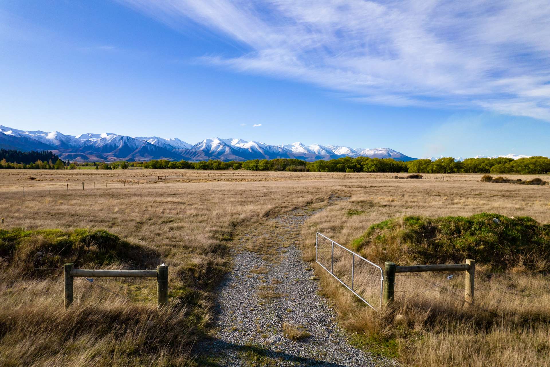
M55 162L55 163L53 163ZM128 167L163 169L244 169L246 171L289 171L289 172L389 172L389 173L550 173L550 159L530 157L513 160L511 158L467 158L456 161L453 157L443 157L408 162L392 158L343 157L328 161L305 162L298 159L276 158L273 160L230 161L219 160L189 162L151 160L146 162L63 162L52 152L20 152L0 150L0 168L30 169L116 169Z

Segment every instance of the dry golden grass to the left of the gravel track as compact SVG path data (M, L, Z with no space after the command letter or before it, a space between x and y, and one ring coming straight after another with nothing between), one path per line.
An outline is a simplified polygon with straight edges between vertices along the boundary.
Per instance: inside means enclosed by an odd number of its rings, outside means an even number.
M149 183L149 178L173 171L86 170L79 171L78 178L75 171L9 173L0 176L3 229L107 229L144 250L154 250L158 262L170 266L171 308L157 311L154 280L96 279L95 284L122 297L75 281L75 303L65 311L61 269L50 269L39 278L4 273L7 281L0 285L5 305L0 311L4 365L192 363L191 347L207 332L212 292L229 270L227 249L235 233L294 207L326 202L330 192L321 181L304 187L290 176L266 182L265 176L227 172L183 172L184 178L212 179L200 183L180 178ZM26 180L29 174L37 178L32 185ZM246 180L234 182L235 176ZM126 182L122 187L121 180ZM25 198L19 192L22 182ZM34 245L40 248L40 243Z

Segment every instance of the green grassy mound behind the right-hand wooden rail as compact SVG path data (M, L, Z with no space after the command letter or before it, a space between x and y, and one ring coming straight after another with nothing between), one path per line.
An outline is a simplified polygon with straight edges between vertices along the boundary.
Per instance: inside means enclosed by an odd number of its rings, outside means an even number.
M493 213L403 217L373 224L351 247L367 259L445 264L475 259L493 270L550 269L550 224Z

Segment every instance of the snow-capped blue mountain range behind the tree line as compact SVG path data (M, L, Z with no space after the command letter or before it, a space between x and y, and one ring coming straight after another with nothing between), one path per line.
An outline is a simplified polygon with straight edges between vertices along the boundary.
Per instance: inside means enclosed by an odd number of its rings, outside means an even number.
M340 157L393 158L410 161L389 148L353 149L348 146L318 144L269 145L243 139L211 138L195 145L178 138L130 136L113 133L64 135L60 132L18 130L0 125L0 147L4 149L51 150L70 161L144 161L152 159L202 161L244 161L252 159L297 158L304 161L329 160Z

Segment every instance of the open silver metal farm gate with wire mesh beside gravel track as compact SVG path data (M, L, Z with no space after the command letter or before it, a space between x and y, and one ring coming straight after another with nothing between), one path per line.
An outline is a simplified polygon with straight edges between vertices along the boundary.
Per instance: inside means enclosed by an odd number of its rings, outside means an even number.
M315 261L373 310L381 308L381 267L319 232L315 235Z

